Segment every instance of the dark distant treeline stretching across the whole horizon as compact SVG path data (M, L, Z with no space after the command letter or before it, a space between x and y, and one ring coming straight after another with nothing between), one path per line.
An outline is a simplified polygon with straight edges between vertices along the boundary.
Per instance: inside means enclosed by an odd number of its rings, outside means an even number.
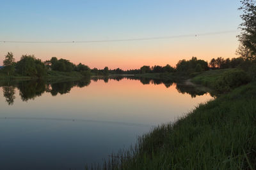
M202 59L197 59L192 57L190 60L180 60L175 67L167 64L166 66L142 66L140 69L130 69L122 70L120 68L109 69L104 67L104 69L97 69L84 65L84 64L74 64L66 59L57 59L52 57L51 60L46 60L42 62L40 59L36 59L34 55L22 55L18 62L15 62L13 53L8 52L3 61L3 68L1 72L7 74L8 76L31 76L42 78L47 76L49 71L61 71L61 72L72 72L76 71L81 73L83 76L93 75L103 75L108 74L144 74L144 73L198 73L202 71L207 71L209 69L226 69L234 67L248 67L252 65L252 60L246 59L244 57L223 59L218 57L217 59L212 59L209 63Z

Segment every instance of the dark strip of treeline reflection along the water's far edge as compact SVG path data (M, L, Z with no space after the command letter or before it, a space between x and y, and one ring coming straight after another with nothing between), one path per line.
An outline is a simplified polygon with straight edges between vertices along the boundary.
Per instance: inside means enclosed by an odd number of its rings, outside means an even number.
M3 94L6 98L6 103L8 105L13 105L15 100L15 89L19 90L19 95L22 101L28 101L30 99L35 99L35 97L40 97L44 92L51 93L52 96L57 96L58 94L67 94L73 87L86 87L90 85L92 81L103 80L108 83L109 80L120 81L123 79L127 80L138 80L143 85L154 84L161 85L164 84L166 88L171 87L173 84L176 85L178 92L182 94L189 94L192 98L196 96L203 96L207 94L207 90L198 88L195 85L184 83L182 81L173 80L161 80L154 78L140 78L136 76L102 76L93 78L84 78L76 81L45 81L45 80L29 80L29 81L8 81L1 82L0 87L3 87ZM212 94L211 94L212 96Z

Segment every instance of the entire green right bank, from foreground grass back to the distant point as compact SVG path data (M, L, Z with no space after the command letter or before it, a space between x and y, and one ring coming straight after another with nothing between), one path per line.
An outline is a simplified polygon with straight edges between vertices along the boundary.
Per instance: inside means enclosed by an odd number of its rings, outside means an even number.
M141 136L135 146L106 162L104 169L256 169L256 66L254 60L241 59L232 59L236 68L224 60L224 66L218 66L222 69L210 71L201 71L196 64L194 71L188 67L175 73L136 74L145 82L188 76L218 97Z

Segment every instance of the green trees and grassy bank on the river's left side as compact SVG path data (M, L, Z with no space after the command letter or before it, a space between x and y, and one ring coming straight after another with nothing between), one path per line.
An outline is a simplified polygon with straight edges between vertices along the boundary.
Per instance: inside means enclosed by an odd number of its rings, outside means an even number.
M52 57L51 60L42 62L34 55L22 55L15 63L13 53L8 52L4 60L3 69L0 69L0 80L36 80L36 79L64 79L78 80L90 77L91 71L88 66L79 63L77 66L65 59L58 60Z

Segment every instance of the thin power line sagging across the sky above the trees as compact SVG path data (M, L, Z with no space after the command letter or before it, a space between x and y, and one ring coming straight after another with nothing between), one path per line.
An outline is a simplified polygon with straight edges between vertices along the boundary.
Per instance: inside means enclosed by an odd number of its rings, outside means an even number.
M156 39L172 39L172 38L187 38L187 37L200 37L211 36L217 34L228 34L237 31L220 31L220 32L207 32L202 34L183 34L177 36L157 36L148 38L126 38L126 39L104 39L104 40L88 40L88 41L0 41L0 43L107 43L107 42L120 42L120 41L147 41Z

